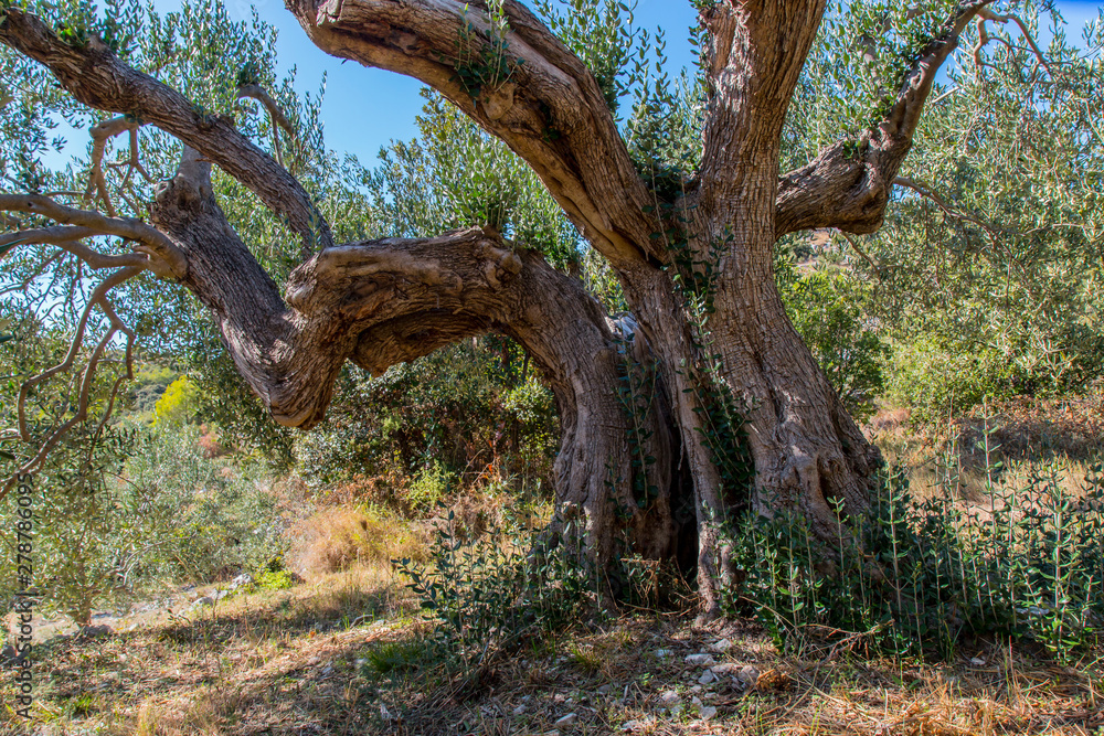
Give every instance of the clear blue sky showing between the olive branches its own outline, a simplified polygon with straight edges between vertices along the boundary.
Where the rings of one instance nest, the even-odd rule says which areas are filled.
[[[178,0],[156,0],[155,4],[166,10],[179,7]],[[283,0],[230,0],[227,10],[231,17],[244,20],[251,15],[251,6],[278,29],[280,66],[297,67],[296,86],[300,90],[315,92],[322,74],[327,75],[322,120],[330,148],[339,153],[354,153],[361,162],[372,166],[380,148],[390,140],[413,137],[414,116],[424,102],[418,96],[420,83],[352,62],[342,64],[326,55],[310,43],[291,13],[284,9]],[[1101,8],[1096,2],[1069,0],[1059,0],[1058,6],[1070,23],[1071,40],[1080,38],[1080,30],[1072,29],[1081,29],[1090,18],[1095,19]],[[688,30],[694,24],[696,12],[689,0],[639,0],[636,21],[644,28],[666,31],[672,72],[692,64]]]

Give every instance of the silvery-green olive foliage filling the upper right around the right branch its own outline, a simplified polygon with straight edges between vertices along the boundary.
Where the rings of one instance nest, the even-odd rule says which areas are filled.
[[[784,169],[853,137],[895,94],[891,60],[907,61],[949,13],[943,2],[915,10],[830,10],[790,107]],[[1011,23],[989,24],[999,41],[980,66],[970,53],[948,61],[901,171],[919,190],[893,190],[884,226],[853,238],[864,257],[846,258],[870,286],[863,311],[894,345],[892,393],[925,422],[952,395],[966,412],[985,395],[1076,392],[1104,366],[1104,138],[1086,115],[1104,105],[1104,24],[1074,43],[1053,6],[1017,12],[1050,38],[1045,65]],[[976,41],[966,34],[964,49]]]

